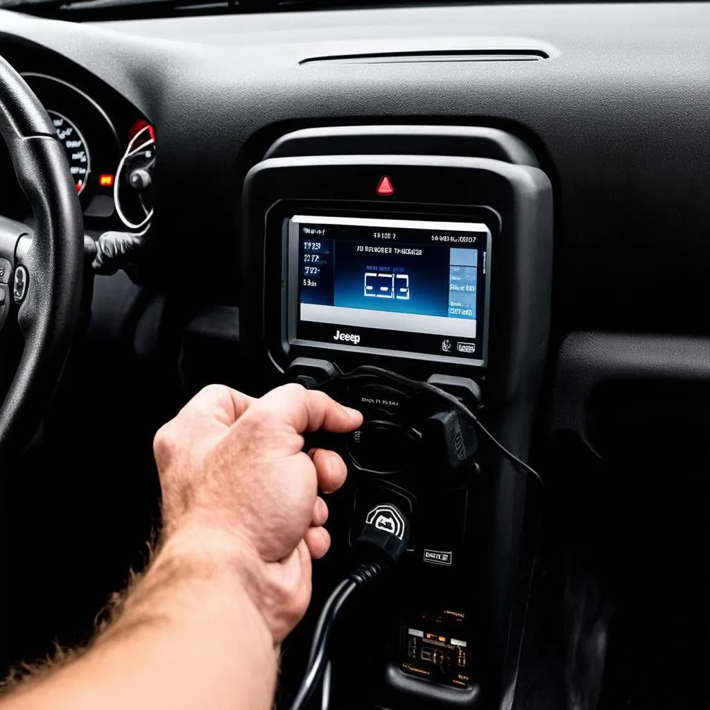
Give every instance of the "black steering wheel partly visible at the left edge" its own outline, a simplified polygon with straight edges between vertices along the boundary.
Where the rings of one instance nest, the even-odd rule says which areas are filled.
[[[1,471],[9,450],[23,449],[33,436],[67,359],[82,295],[84,225],[55,127],[30,87],[2,58],[0,135],[36,223],[32,234],[0,217],[0,330],[5,330],[0,363],[10,368],[4,373],[0,406]],[[16,368],[5,362],[9,349],[3,343],[13,312],[24,341]]]

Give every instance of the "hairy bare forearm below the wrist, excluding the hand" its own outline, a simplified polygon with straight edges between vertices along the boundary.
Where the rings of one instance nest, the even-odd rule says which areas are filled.
[[[266,710],[277,654],[250,584],[229,540],[178,533],[92,648],[0,710]]]

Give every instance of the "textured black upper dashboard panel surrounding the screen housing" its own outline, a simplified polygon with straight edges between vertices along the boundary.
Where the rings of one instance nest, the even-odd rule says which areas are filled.
[[[503,126],[533,146],[559,191],[561,331],[687,333],[707,329],[706,314],[682,307],[704,298],[708,217],[693,188],[707,178],[706,13],[702,3],[556,4],[94,25],[4,14],[2,28],[4,48],[21,37],[90,67],[153,122],[166,153],[160,197],[192,206],[155,225],[171,244],[209,234],[233,249],[227,225],[246,170],[290,129],[403,117]],[[427,60],[452,50],[473,54]],[[502,50],[535,60],[498,61]],[[392,53],[408,60],[367,58]],[[664,248],[677,268],[660,298],[641,266]]]

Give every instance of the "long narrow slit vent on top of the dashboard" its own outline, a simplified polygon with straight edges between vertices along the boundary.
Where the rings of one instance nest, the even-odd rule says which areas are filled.
[[[422,64],[436,62],[537,62],[550,59],[542,50],[481,49],[481,50],[431,50],[426,52],[382,52],[372,54],[333,55],[309,57],[299,64],[328,62],[329,64]]]

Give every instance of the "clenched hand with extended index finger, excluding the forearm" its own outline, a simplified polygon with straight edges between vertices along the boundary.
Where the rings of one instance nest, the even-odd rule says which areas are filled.
[[[302,432],[349,432],[361,422],[298,385],[258,400],[214,385],[155,435],[165,546],[178,555],[226,552],[274,643],[305,613],[310,558],[330,545],[318,488],[334,491],[346,476],[338,454],[302,452]]]

